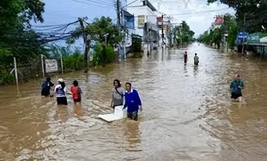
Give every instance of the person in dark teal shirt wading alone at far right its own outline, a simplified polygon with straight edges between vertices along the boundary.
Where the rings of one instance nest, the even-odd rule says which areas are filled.
[[[242,101],[242,92],[241,89],[244,88],[244,83],[243,81],[240,80],[239,75],[234,75],[234,81],[230,85],[231,89],[231,98],[233,100],[239,100],[239,102]]]

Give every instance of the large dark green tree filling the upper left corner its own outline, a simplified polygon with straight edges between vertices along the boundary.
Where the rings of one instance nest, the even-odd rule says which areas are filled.
[[[43,22],[42,0],[1,0],[0,2],[0,64],[10,65],[13,57],[29,63],[46,50],[39,44],[39,35],[30,28],[30,20]]]

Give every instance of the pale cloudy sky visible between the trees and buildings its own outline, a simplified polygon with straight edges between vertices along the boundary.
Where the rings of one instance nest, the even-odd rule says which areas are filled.
[[[78,17],[88,17],[91,22],[95,17],[110,16],[116,22],[115,0],[44,0],[45,22],[37,25],[60,25],[74,22]],[[173,17],[174,23],[185,20],[196,35],[207,30],[216,15],[234,14],[227,5],[213,3],[207,5],[206,0],[150,0],[159,12]],[[223,9],[223,10],[219,10]],[[204,12],[219,10],[214,12]],[[74,29],[76,26],[70,26]]]

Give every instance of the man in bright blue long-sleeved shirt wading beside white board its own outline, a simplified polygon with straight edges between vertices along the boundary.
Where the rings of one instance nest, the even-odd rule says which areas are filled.
[[[125,86],[125,104],[123,109],[127,107],[127,117],[137,121],[139,108],[141,111],[143,110],[141,99],[137,90],[132,89],[131,83],[128,82]]]

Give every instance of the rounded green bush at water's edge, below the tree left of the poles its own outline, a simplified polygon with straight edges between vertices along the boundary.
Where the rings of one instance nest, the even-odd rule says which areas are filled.
[[[107,63],[111,63],[116,58],[116,53],[111,45],[96,44],[94,47],[94,59],[93,65],[105,66]]]

